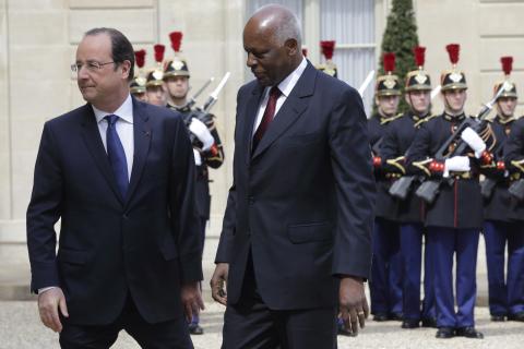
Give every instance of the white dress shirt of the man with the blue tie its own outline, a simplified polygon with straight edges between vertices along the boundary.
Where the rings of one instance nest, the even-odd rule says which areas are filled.
[[[116,115],[118,118],[116,128],[118,137],[123,146],[126,153],[126,161],[128,163],[128,180],[131,178],[131,169],[133,168],[133,155],[134,155],[134,134],[133,134],[133,101],[131,95],[126,98],[123,104],[115,111],[108,112],[97,109],[95,106],[93,111],[95,112],[96,123],[98,124],[98,131],[100,132],[102,143],[107,153],[106,132],[107,120],[104,120],[106,116]]]

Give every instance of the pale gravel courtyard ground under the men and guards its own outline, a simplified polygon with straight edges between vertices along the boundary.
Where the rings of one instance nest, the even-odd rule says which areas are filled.
[[[207,303],[202,314],[203,336],[193,336],[196,349],[218,349],[221,347],[223,306]],[[436,339],[434,329],[401,329],[398,322],[368,325],[356,338],[338,337],[338,348],[499,348],[521,349],[524,344],[524,323],[491,323],[486,308],[476,310],[477,328],[486,338],[478,339]],[[38,320],[33,301],[0,302],[0,348],[2,349],[47,349],[58,348],[58,335],[45,328]],[[128,349],[139,346],[126,333],[121,333],[112,348]],[[317,349],[317,348],[305,348]]]

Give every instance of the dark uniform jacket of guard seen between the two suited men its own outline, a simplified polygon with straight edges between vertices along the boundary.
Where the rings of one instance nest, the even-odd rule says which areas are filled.
[[[168,108],[174,109],[180,112],[186,121],[186,124],[189,127],[191,122],[190,118],[192,118],[192,113],[194,110],[190,109],[189,107],[177,107],[172,105],[167,105]],[[218,136],[218,131],[216,130],[216,125],[214,122],[214,116],[207,115],[205,120],[205,125],[211,132],[211,135],[215,140],[215,144],[211,147],[211,149],[206,152],[200,152],[202,157],[202,165],[196,166],[196,182],[195,182],[195,196],[196,196],[196,213],[199,217],[202,219],[210,219],[210,210],[211,210],[211,195],[210,195],[210,173],[209,168],[218,168],[224,163],[224,149],[222,146],[221,137]],[[193,144],[194,147],[200,149],[202,144],[196,140]]]

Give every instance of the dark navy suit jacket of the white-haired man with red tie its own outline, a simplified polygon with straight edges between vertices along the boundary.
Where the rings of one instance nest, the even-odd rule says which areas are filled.
[[[234,184],[216,262],[229,263],[228,302],[238,302],[251,251],[271,309],[330,306],[341,274],[367,278],[374,182],[358,93],[308,63],[251,154],[263,88],[237,98]]]

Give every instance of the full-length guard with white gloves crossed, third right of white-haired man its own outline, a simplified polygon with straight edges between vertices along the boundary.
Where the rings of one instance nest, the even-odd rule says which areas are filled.
[[[480,165],[492,158],[486,152],[485,141],[472,128],[457,131],[467,119],[464,113],[466,76],[456,70],[460,46],[448,45],[446,49],[453,68],[441,74],[444,112],[421,124],[408,149],[407,163],[413,165],[412,170],[426,177],[427,183],[440,185],[438,195],[426,206],[428,245],[434,255],[437,338],[483,338],[474,327],[477,249],[483,228],[478,174]],[[443,144],[445,154],[441,157]],[[455,153],[462,147],[458,144],[467,145],[464,154]],[[455,253],[456,312],[453,297]]]

